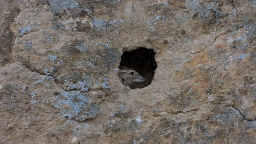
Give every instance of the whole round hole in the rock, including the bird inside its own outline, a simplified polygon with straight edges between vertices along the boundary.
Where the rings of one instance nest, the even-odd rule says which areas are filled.
[[[118,78],[131,89],[144,88],[151,84],[157,63],[153,49],[138,48],[125,51],[121,56]]]

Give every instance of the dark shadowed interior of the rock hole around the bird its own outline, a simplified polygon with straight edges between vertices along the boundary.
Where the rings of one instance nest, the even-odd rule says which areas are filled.
[[[142,77],[147,79],[147,81],[145,82],[131,83],[130,85],[128,85],[131,89],[144,88],[151,84],[154,78],[154,71],[157,68],[157,63],[154,59],[155,54],[156,52],[154,52],[153,49],[146,49],[144,47],[140,47],[132,51],[123,52],[119,69],[121,68],[121,66],[134,69]]]

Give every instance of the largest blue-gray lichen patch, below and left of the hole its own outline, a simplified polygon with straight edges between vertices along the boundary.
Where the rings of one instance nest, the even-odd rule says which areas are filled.
[[[85,121],[95,118],[101,111],[98,105],[92,104],[88,93],[80,91],[60,92],[53,98],[53,106],[59,108],[62,115],[75,121]]]

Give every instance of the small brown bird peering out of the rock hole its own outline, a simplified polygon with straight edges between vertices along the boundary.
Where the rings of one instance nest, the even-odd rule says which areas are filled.
[[[131,83],[141,83],[147,81],[138,72],[131,68],[120,66],[119,69],[118,77],[120,82],[125,86],[129,86]]]

